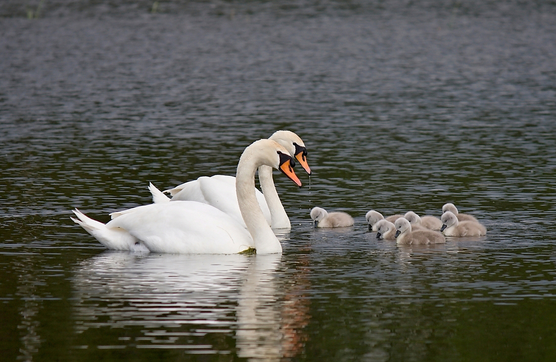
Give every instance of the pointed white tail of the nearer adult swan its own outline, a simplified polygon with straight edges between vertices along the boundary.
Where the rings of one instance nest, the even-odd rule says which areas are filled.
[[[76,215],[77,219],[70,219],[85,229],[87,233],[93,235],[93,237],[95,237],[95,239],[97,239],[107,249],[135,251],[139,248],[137,249],[138,251],[143,251],[141,248],[144,247],[139,240],[133,237],[133,235],[128,233],[126,230],[120,228],[108,228],[106,227],[106,224],[91,219],[78,209],[72,211]]]

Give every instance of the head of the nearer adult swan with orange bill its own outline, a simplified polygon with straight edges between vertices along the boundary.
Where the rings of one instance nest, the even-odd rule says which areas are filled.
[[[301,181],[294,172],[295,161],[281,144],[270,139],[259,139],[247,146],[244,153],[241,154],[240,162],[237,164],[238,170],[240,164],[247,160],[254,162],[256,167],[267,165],[279,169],[301,187]]]

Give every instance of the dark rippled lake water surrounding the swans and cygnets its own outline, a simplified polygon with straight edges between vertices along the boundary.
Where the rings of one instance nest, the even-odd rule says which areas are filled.
[[[6,360],[556,360],[554,2],[7,0],[0,16]],[[277,129],[314,172],[296,167],[301,189],[275,172],[282,255],[109,252],[69,219],[233,175]],[[488,235],[366,232],[370,209],[446,202]],[[315,206],[355,226],[315,229]]]

